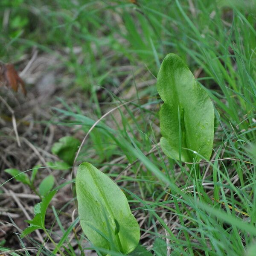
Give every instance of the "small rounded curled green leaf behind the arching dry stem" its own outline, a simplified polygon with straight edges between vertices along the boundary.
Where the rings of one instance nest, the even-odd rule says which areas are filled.
[[[56,154],[61,160],[72,166],[79,145],[80,141],[74,137],[62,137],[59,139],[59,142],[53,144],[52,153]]]

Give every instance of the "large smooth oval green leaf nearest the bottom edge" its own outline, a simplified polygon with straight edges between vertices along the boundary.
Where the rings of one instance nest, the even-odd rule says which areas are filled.
[[[140,227],[119,187],[90,163],[76,175],[81,227],[88,239],[107,250],[130,253],[140,240]]]

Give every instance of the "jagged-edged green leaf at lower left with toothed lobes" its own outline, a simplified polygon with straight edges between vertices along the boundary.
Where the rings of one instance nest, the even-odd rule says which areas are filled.
[[[21,238],[23,238],[24,236],[29,235],[30,233],[32,233],[33,231],[35,231],[37,229],[44,229],[45,228],[44,227],[44,220],[45,220],[46,210],[49,206],[50,201],[52,200],[52,198],[56,194],[56,192],[57,192],[57,190],[53,190],[53,191],[49,192],[43,198],[41,203],[38,203],[38,204],[35,205],[35,207],[34,207],[35,217],[31,221],[29,221],[29,220],[26,221],[30,225],[25,230],[23,230],[23,232],[20,236]]]

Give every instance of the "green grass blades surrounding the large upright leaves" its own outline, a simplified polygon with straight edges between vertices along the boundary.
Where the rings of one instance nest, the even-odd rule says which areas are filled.
[[[256,241],[253,1],[138,0],[138,6],[129,1],[14,2],[17,6],[0,4],[2,19],[10,10],[9,25],[1,33],[1,60],[18,61],[33,46],[54,53],[73,78],[70,88],[87,95],[82,105],[67,104],[63,97],[61,107],[52,109],[52,124],[76,124],[85,135],[103,114],[127,102],[90,132],[79,162],[92,163],[122,187],[139,223],[143,220],[141,234],[148,234],[141,242],[169,241],[173,256],[252,256],[247,250]],[[17,17],[24,24],[12,24]],[[81,47],[79,54],[75,47]],[[187,169],[168,159],[158,145],[156,76],[169,52],[197,74],[220,114],[212,160],[200,164],[200,177],[194,175],[195,165]],[[67,235],[58,247],[74,255],[67,237],[76,221],[64,230],[58,210],[65,212],[54,209],[53,230],[58,226]],[[86,249],[84,239],[81,232],[75,237],[81,250]]]

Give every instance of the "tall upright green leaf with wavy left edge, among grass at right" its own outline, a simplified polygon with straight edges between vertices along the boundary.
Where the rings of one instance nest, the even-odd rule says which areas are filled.
[[[164,102],[160,110],[163,152],[173,159],[192,162],[196,158],[192,151],[196,151],[209,160],[214,137],[213,104],[179,56],[171,53],[164,58],[157,90]]]

